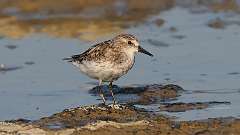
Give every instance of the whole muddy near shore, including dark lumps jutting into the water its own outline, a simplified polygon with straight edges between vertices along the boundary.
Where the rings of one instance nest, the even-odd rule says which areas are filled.
[[[38,120],[17,119],[0,122],[0,134],[239,134],[237,118],[212,118],[195,121],[176,121],[174,118],[136,107],[158,103],[162,111],[181,112],[199,110],[230,102],[159,103],[181,96],[180,86],[147,85],[145,87],[117,88],[116,94],[136,94],[139,98],[117,105],[90,105],[65,109]],[[93,88],[90,93],[94,94]],[[107,97],[107,91],[104,93]]]

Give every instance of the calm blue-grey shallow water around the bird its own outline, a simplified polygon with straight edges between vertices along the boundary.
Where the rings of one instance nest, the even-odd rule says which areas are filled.
[[[152,23],[158,18],[165,20],[162,27]],[[208,27],[208,22],[216,18],[234,23],[228,23],[224,29]],[[236,22],[240,22],[240,15],[232,12],[193,14],[176,7],[126,29],[125,32],[135,34],[154,57],[138,54],[133,69],[115,84],[174,83],[188,92],[171,102],[231,102],[203,110],[160,112],[176,116],[178,120],[240,117],[240,25]],[[171,31],[171,27],[176,31]],[[0,39],[0,64],[21,67],[0,71],[0,120],[38,119],[65,108],[100,103],[101,100],[88,93],[96,81],[61,60],[96,42],[45,34]],[[9,49],[6,45],[17,47]],[[148,106],[154,110],[158,107]]]

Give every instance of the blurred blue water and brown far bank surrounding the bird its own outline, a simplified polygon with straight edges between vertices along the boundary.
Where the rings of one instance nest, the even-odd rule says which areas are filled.
[[[240,117],[239,13],[240,0],[0,0],[0,120],[101,102],[96,81],[61,59],[119,33],[155,57],[139,54],[118,86],[173,83],[189,91],[178,102],[231,102],[161,112],[181,120]]]

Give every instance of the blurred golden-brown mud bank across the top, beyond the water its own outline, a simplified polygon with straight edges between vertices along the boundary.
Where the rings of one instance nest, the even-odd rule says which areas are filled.
[[[2,36],[22,38],[32,33],[95,40],[146,23],[175,6],[192,12],[239,12],[235,0],[1,0]],[[194,11],[195,10],[195,11]],[[164,23],[158,20],[157,25]]]

